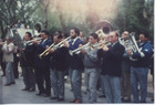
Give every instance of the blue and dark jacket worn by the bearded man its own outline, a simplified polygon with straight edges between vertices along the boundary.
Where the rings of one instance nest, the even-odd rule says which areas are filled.
[[[83,44],[83,41],[80,38],[76,38],[76,40],[74,41],[74,43],[72,44],[72,40],[69,42],[70,46],[69,46],[69,51],[73,51],[75,49],[79,48],[79,44]],[[82,61],[82,56],[80,54],[73,54],[73,55],[68,55],[68,62],[69,62],[69,66],[72,70],[83,70],[83,61]]]

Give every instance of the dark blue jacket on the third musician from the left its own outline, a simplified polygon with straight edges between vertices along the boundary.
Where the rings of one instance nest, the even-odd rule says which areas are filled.
[[[41,59],[39,57],[39,54],[41,54],[46,45],[51,45],[51,40],[48,39],[43,44],[43,41],[40,42],[40,44],[35,45],[37,50],[35,50],[35,67],[50,67],[50,54],[46,56],[42,56]]]

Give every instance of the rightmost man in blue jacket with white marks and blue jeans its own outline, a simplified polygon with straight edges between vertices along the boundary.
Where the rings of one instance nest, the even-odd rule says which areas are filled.
[[[133,52],[128,50],[127,53],[134,59],[131,64],[131,86],[134,103],[145,103],[147,95],[147,74],[151,57],[153,55],[153,49],[148,42],[148,34],[141,33],[140,42],[137,43],[140,52]],[[141,101],[138,99],[137,86],[140,84]]]

